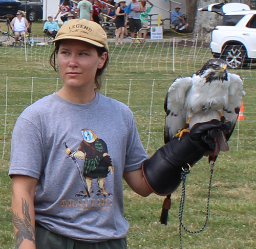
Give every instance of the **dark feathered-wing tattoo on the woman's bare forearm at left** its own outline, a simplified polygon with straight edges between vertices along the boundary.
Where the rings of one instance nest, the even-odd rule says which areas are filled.
[[[24,198],[22,198],[22,213],[23,218],[19,217],[18,213],[12,213],[13,224],[18,230],[15,235],[18,248],[25,239],[35,244],[35,229],[31,225],[29,205]]]

